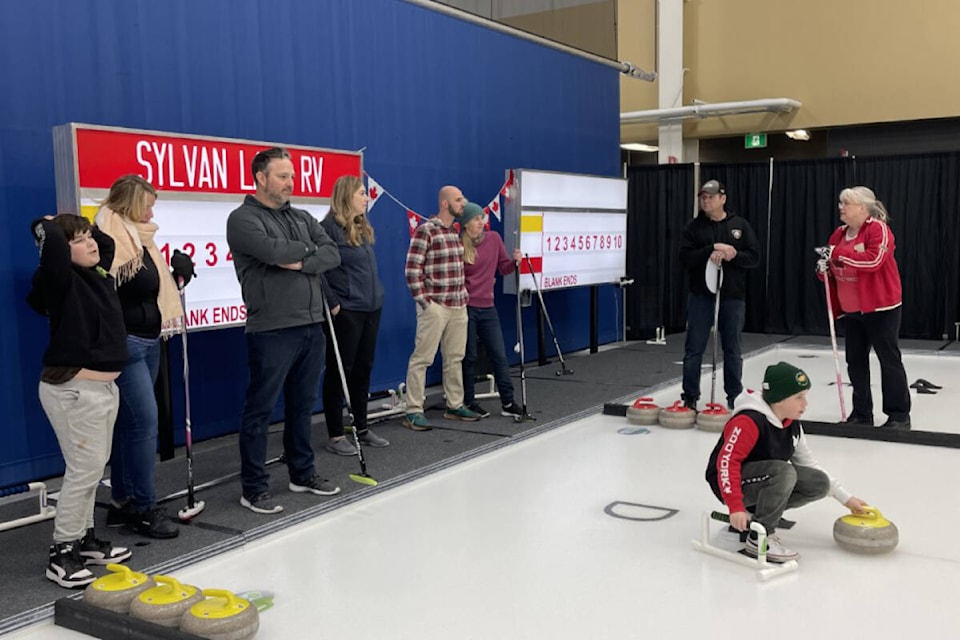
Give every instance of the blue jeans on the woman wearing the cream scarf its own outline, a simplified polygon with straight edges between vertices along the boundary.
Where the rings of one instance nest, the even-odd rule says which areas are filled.
[[[153,385],[160,368],[160,338],[127,336],[129,357],[117,378],[120,409],[110,456],[111,497],[138,511],[157,501],[153,467],[157,459],[157,396]]]

